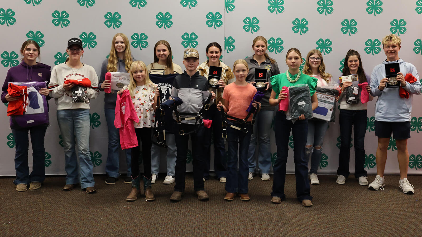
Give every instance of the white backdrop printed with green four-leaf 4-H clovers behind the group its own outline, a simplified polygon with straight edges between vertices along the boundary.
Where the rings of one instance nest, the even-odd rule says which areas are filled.
[[[341,0],[14,0],[0,3],[0,74],[20,62],[20,46],[27,39],[41,46],[41,62],[54,66],[65,61],[66,42],[78,37],[84,43],[82,62],[100,73],[107,57],[111,39],[117,32],[126,34],[135,59],[146,64],[153,61],[154,44],[168,40],[173,50],[173,62],[182,65],[185,48],[197,48],[200,61],[206,60],[205,47],[216,41],[224,46],[221,60],[233,65],[236,59],[253,54],[252,40],[262,35],[268,40],[268,54],[285,72],[285,54],[296,47],[306,57],[309,50],[322,51],[326,71],[337,77],[344,67],[344,55],[349,48],[359,51],[366,73],[385,59],[381,39],[390,33],[400,35],[400,57],[422,70],[422,0],[355,1]],[[103,92],[91,100],[90,149],[95,173],[104,173],[107,158],[107,124],[104,116]],[[422,174],[422,97],[414,96],[409,174]],[[365,169],[376,173],[374,134],[375,101],[368,104],[368,125],[365,137]],[[14,175],[14,137],[8,127],[7,107],[3,106],[3,127],[0,128],[0,175]],[[50,101],[50,126],[47,129],[46,173],[64,174],[62,137],[57,126],[56,106]],[[273,128],[273,124],[268,124]],[[353,143],[353,142],[352,142]],[[338,121],[330,123],[319,173],[335,174],[339,153]],[[289,146],[293,148],[291,139]],[[350,171],[354,172],[354,149],[351,144]],[[398,174],[397,147],[391,139],[388,148],[386,174]],[[31,153],[30,153],[31,154]],[[163,156],[164,157],[164,156]],[[192,154],[188,154],[187,170],[192,170]],[[276,159],[274,134],[271,133],[271,161]],[[30,159],[31,160],[31,159]],[[160,164],[165,172],[165,160]],[[212,165],[211,165],[212,167]],[[121,157],[121,172],[126,165]],[[287,172],[294,172],[292,149]]]

